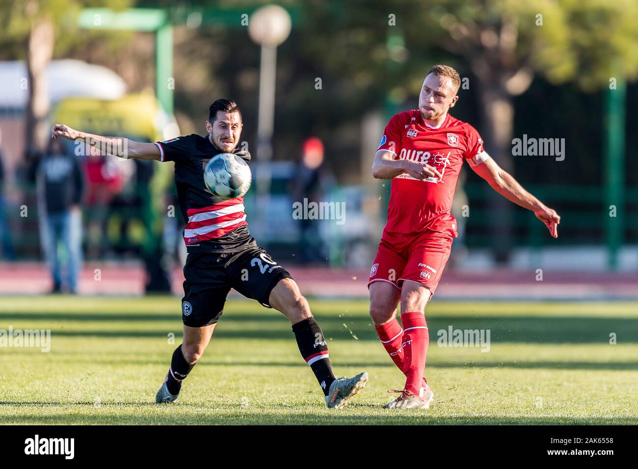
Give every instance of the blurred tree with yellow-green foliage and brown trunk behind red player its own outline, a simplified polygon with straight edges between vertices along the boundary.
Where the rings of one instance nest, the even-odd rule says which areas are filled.
[[[638,71],[638,3],[516,0],[438,0],[427,13],[431,37],[470,65],[478,80],[482,131],[493,158],[512,165],[512,96],[535,72],[549,82],[574,81],[593,91]],[[547,103],[551,105],[551,103]],[[496,260],[508,258],[512,207],[491,199]]]

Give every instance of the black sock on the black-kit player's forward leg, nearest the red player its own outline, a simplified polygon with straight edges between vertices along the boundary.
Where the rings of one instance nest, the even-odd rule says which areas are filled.
[[[308,318],[293,324],[292,332],[297,338],[301,356],[310,365],[324,396],[327,396],[334,375],[328,358],[328,341],[323,337],[321,327],[316,324],[315,318]]]

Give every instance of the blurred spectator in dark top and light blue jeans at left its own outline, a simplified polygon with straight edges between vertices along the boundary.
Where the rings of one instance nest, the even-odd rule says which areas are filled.
[[[60,140],[51,140],[37,169],[40,239],[53,276],[53,292],[77,293],[82,264],[82,214],[84,180],[74,154],[64,151]],[[62,242],[66,258],[63,282],[59,258]]]

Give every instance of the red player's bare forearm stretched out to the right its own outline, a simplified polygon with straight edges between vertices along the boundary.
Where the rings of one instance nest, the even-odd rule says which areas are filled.
[[[545,226],[556,238],[558,237],[558,224],[560,223],[560,216],[554,209],[550,209],[544,205],[540,200],[531,195],[528,191],[524,190],[523,186],[519,184],[512,175],[507,171],[501,169],[501,167],[487,157],[483,163],[479,165],[471,165],[471,168],[476,174],[485,179],[489,185],[500,195],[511,200],[515,204],[521,205],[528,210],[534,212],[538,220],[545,223]]]

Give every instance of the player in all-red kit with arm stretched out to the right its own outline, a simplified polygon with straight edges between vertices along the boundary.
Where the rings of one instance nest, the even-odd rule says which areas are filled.
[[[401,395],[385,408],[428,408],[434,397],[424,378],[429,344],[424,310],[457,237],[450,207],[463,160],[558,236],[556,211],[489,157],[475,128],[448,114],[459,99],[460,84],[454,68],[433,66],[423,82],[419,109],[390,119],[372,167],[374,177],[392,179],[392,185],[388,222],[370,271],[370,316],[385,350],[406,377],[403,391],[390,391]],[[401,325],[396,318],[399,301]]]

